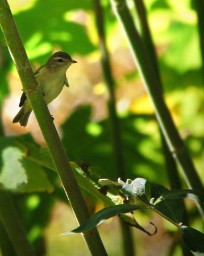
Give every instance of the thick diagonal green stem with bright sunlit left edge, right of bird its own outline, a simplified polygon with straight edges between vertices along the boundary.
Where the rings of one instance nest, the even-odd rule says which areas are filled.
[[[149,59],[138,30],[135,28],[134,21],[132,20],[126,2],[123,0],[111,0],[111,3],[123,31],[125,32],[128,43],[130,44],[135,63],[149,97],[152,100],[157,121],[164,134],[169,150],[176,159],[188,187],[203,192],[201,180],[199,179],[190,155],[186,150],[184,142],[182,141],[164,102],[160,81],[157,79],[155,70],[152,67],[151,59]],[[198,209],[204,219],[202,206],[198,205]]]

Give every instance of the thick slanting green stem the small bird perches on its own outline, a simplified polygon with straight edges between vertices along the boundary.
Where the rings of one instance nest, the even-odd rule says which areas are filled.
[[[51,115],[41,90],[38,87],[34,73],[32,72],[30,62],[28,61],[26,51],[23,47],[13,15],[11,14],[9,4],[6,0],[0,0],[0,24],[7,46],[10,49],[10,53],[19,73],[20,80],[22,81],[23,90],[34,110],[36,119],[38,120],[41,132],[47,143],[53,163],[60,176],[70,205],[78,223],[82,224],[90,216],[88,208],[80,188],[78,187],[63,145],[61,144],[59,134],[51,120]],[[83,234],[83,237],[92,255],[107,255],[97,229]]]

